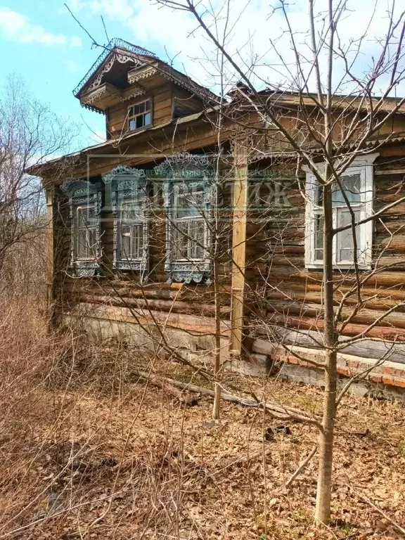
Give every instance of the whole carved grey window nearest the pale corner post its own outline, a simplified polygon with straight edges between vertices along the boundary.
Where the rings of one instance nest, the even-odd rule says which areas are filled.
[[[167,282],[211,283],[212,172],[204,155],[179,154],[155,167],[166,212]]]

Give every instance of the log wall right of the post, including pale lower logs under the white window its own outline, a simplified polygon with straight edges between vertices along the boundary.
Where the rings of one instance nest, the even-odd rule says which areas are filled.
[[[404,156],[404,145],[380,149],[380,156],[374,163],[375,212],[404,197]],[[294,173],[292,171],[291,176]],[[255,176],[252,169],[251,176]],[[285,176],[288,177],[288,171]],[[316,347],[314,339],[321,340],[319,331],[323,330],[323,274],[316,269],[306,269],[304,264],[305,202],[295,181],[285,180],[281,203],[264,205],[260,212],[251,212],[249,268],[255,279],[250,280],[249,294],[255,309],[250,312],[246,333],[258,340],[259,345],[253,345],[254,352],[296,363],[285,348],[277,349],[277,346],[282,343],[288,347],[311,347],[311,358]],[[342,323],[338,324],[343,339],[359,333],[364,333],[366,339],[342,352],[378,359],[390,348],[387,342],[405,342],[404,214],[405,205],[401,203],[375,220],[372,270],[360,272],[361,280],[364,280],[361,286],[363,303],[349,323],[344,324],[357,305],[356,294],[347,298],[342,309]],[[354,283],[354,272],[336,270],[334,278],[335,304],[338,306],[342,295]],[[384,316],[388,310],[392,312]],[[386,343],[371,342],[371,339],[385,340]],[[269,346],[264,345],[263,340]],[[305,356],[304,350],[301,354]],[[405,364],[405,345],[393,346],[389,359]],[[404,377],[403,373],[401,377]]]

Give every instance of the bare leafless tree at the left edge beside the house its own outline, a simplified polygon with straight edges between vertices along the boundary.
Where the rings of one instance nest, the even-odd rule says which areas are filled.
[[[42,186],[26,169],[66,153],[74,138],[72,122],[9,77],[0,94],[0,270],[14,245],[46,228]]]

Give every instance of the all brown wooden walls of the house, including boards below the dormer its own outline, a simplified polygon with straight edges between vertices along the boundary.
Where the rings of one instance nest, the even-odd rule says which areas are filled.
[[[168,90],[169,88],[169,90]],[[162,92],[160,93],[160,89]],[[215,131],[215,118],[208,118],[207,113],[186,117],[177,122],[173,118],[175,103],[191,103],[195,109],[201,109],[201,102],[195,100],[192,94],[181,91],[172,85],[157,86],[153,94],[154,122],[153,127],[129,134],[120,140],[117,146],[102,145],[100,150],[94,150],[97,155],[93,158],[91,151],[83,153],[82,162],[77,164],[77,176],[89,174],[91,181],[97,181],[101,175],[109,172],[117,165],[131,167],[153,166],[156,154],[176,153],[182,151],[205,151],[213,148],[218,141]],[[158,97],[156,97],[158,96]],[[122,134],[120,126],[124,124],[127,103],[110,107],[108,122],[110,131]],[[160,103],[158,108],[155,104]],[[169,105],[170,103],[170,105]],[[156,113],[162,111],[161,116]],[[211,111],[212,115],[212,111]],[[157,120],[158,119],[158,120]],[[287,118],[292,130],[297,123],[296,115]],[[155,124],[162,122],[162,124]],[[252,125],[255,124],[252,119]],[[383,131],[401,131],[403,122],[393,120]],[[383,133],[382,131],[382,133]],[[229,125],[221,134],[222,140],[232,139],[232,129]],[[274,153],[290,150],[282,137],[266,136],[266,145]],[[114,157],[114,154],[116,157]],[[375,162],[375,197],[374,207],[378,210],[382,205],[397,200],[404,194],[402,179],[405,174],[405,147],[385,145],[380,150],[380,158]],[[51,165],[49,165],[51,167]],[[296,342],[300,330],[308,336],[311,332],[322,330],[321,282],[322,273],[307,270],[304,265],[304,201],[297,185],[291,181],[288,169],[266,163],[265,160],[249,168],[249,183],[252,188],[255,171],[259,169],[273,170],[278,173],[276,186],[266,182],[259,190],[253,189],[250,198],[253,199],[250,217],[246,227],[245,252],[247,265],[243,266],[245,279],[243,318],[246,324],[245,335],[268,343],[283,336],[283,342]],[[273,171],[274,172],[274,171]],[[231,175],[232,177],[232,175]],[[288,178],[286,178],[288,177]],[[281,183],[285,181],[281,189]],[[224,216],[221,221],[224,228],[224,241],[221,247],[219,267],[219,295],[221,297],[221,337],[224,350],[231,335],[231,246],[232,246],[232,193],[228,184],[224,189]],[[259,207],[255,203],[259,197]],[[161,192],[155,193],[161,203]],[[277,200],[280,199],[281,200]],[[156,323],[165,328],[168,335],[175,335],[174,343],[179,341],[179,347],[203,349],[212,352],[214,348],[214,290],[212,285],[172,283],[168,284],[165,273],[165,216],[159,210],[154,210],[150,231],[150,275],[142,286],[135,273],[120,272],[113,268],[113,222],[108,208],[103,210],[102,243],[103,243],[103,276],[94,278],[72,278],[63,261],[66,257],[55,259],[54,276],[63,276],[63,283],[57,283],[62,298],[62,312],[67,319],[85,316],[86,321],[92,321],[103,330],[110,325],[112,331],[120,331],[118,323],[127,326],[147,326],[152,328]],[[60,216],[53,218],[55,234],[53,245],[70,245],[70,224],[66,219],[66,208],[60,204]],[[229,211],[231,209],[231,211]],[[364,331],[373,324],[384,311],[396,307],[392,313],[375,324],[367,333],[368,338],[383,340],[405,340],[405,309],[397,307],[397,303],[405,301],[405,248],[403,238],[405,231],[402,221],[405,205],[392,208],[375,223],[373,261],[378,266],[377,274],[369,278],[362,288],[365,298],[364,305],[356,313],[352,321],[342,330],[343,335],[353,335]],[[63,214],[65,212],[65,214]],[[63,228],[64,227],[64,228]],[[57,239],[56,230],[60,238]],[[67,249],[67,248],[65,248]],[[63,266],[64,265],[64,266]],[[336,272],[339,285],[338,294],[348,290],[353,282],[353,274],[345,271]],[[54,297],[58,296],[54,293]],[[337,300],[338,302],[338,300]],[[353,300],[347,300],[348,310],[353,306]],[[114,326],[116,325],[116,326]],[[286,330],[281,332],[281,330]],[[108,330],[109,331],[109,330]],[[127,330],[125,330],[127,331]],[[174,334],[175,332],[175,334]],[[172,333],[172,334],[170,334]],[[302,339],[302,334],[300,334]],[[159,335],[158,335],[159,338]],[[256,342],[257,342],[256,340]],[[246,340],[247,344],[249,340]],[[305,340],[304,340],[305,342]],[[306,342],[308,345],[308,342]],[[252,350],[257,352],[260,347],[255,342]],[[271,351],[271,347],[266,350]],[[397,352],[395,353],[397,354]],[[276,356],[270,352],[270,356]],[[282,354],[278,354],[282,357]],[[396,358],[402,359],[398,353]],[[403,360],[402,360],[403,361]]]

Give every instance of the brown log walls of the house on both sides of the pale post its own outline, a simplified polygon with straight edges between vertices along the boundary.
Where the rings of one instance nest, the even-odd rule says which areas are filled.
[[[405,195],[405,148],[387,147],[375,162],[375,210]],[[385,155],[386,154],[386,155]],[[152,167],[155,163],[150,162]],[[148,164],[146,164],[148,166]],[[271,172],[271,184],[266,174],[264,181],[257,171]],[[265,162],[250,167],[250,219],[247,226],[245,271],[245,333],[269,340],[274,329],[288,328],[311,333],[322,330],[321,271],[304,266],[304,200],[295,184],[293,174],[285,167],[272,167]],[[232,178],[232,175],[230,176]],[[259,178],[260,188],[255,185]],[[98,181],[100,176],[94,176]],[[274,183],[276,183],[275,187]],[[284,184],[283,184],[284,183]],[[283,184],[283,186],[281,185]],[[219,263],[221,285],[221,319],[224,349],[229,338],[231,311],[231,198],[232,182],[224,182],[224,228]],[[66,208],[60,205],[60,218],[54,223],[64,226],[65,268],[63,275],[63,312],[86,313],[88,318],[103,324],[105,321],[150,325],[160,321],[168,330],[178,330],[176,339],[183,347],[205,349],[212,347],[214,336],[214,292],[212,286],[172,283],[165,274],[165,215],[162,212],[162,191],[156,188],[150,230],[150,277],[143,286],[139,276],[130,272],[117,273],[113,269],[113,220],[108,209],[103,211],[103,263],[105,275],[97,278],[71,278],[66,272],[66,250],[70,245],[70,224]],[[405,300],[405,236],[403,215],[399,205],[386,212],[375,223],[373,261],[380,271],[366,281],[362,288],[364,307],[347,325],[342,334],[353,335],[364,331],[387,309]],[[392,235],[392,236],[391,236]],[[60,264],[60,263],[58,263]],[[338,294],[348,290],[353,275],[336,272]],[[364,273],[366,275],[366,272]],[[338,298],[338,295],[337,295]],[[337,300],[338,302],[338,300]],[[354,304],[348,300],[346,311]],[[79,311],[78,311],[79,310]],[[92,315],[89,316],[89,313]],[[283,334],[285,336],[285,334]],[[291,334],[294,340],[297,335]],[[372,328],[368,338],[405,340],[405,307],[399,307]],[[283,338],[288,340],[289,338]],[[269,340],[270,341],[270,340]],[[397,355],[400,359],[401,354]]]

